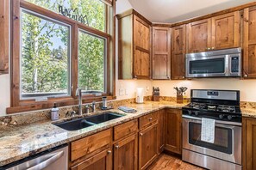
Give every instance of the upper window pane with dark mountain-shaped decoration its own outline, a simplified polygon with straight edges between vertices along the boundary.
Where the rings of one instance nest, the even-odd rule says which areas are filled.
[[[89,27],[105,30],[105,6],[100,0],[26,0]],[[60,6],[62,7],[60,7]]]

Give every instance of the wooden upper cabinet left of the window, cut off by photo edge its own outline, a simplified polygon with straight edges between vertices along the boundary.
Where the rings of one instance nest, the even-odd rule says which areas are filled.
[[[0,2],[0,75],[9,71],[9,1]]]

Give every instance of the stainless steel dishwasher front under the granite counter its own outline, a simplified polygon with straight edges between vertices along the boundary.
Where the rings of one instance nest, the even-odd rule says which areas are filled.
[[[7,166],[0,167],[6,170],[67,170],[68,147],[67,145],[49,149],[41,154],[29,156],[21,161],[16,161]]]

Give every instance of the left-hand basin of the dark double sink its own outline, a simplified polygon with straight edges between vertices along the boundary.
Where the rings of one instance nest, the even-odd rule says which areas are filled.
[[[90,127],[91,125],[95,125],[95,124],[86,121],[86,119],[84,118],[79,118],[76,120],[61,122],[59,124],[54,124],[54,125],[57,125],[60,128],[65,129],[67,131],[77,131],[77,130],[84,129],[86,127]]]

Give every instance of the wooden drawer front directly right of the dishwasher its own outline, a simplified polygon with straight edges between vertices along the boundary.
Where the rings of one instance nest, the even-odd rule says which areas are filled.
[[[111,143],[111,129],[98,132],[71,143],[71,161],[88,155]]]

